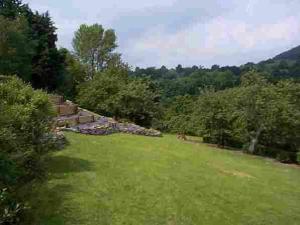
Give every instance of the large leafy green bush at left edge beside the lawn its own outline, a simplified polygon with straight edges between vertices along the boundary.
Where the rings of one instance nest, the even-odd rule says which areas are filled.
[[[18,221],[23,199],[17,190],[42,174],[53,116],[46,93],[15,77],[0,80],[0,224]]]

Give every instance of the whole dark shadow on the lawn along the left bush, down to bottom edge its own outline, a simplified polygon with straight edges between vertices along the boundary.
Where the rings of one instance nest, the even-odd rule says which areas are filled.
[[[65,224],[71,210],[67,202],[73,187],[65,184],[63,179],[68,174],[93,170],[91,162],[68,156],[49,156],[45,163],[48,172],[46,179],[36,181],[24,190],[30,208],[26,210],[22,224]]]

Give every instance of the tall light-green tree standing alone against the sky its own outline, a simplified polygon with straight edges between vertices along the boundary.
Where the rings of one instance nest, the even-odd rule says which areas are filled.
[[[92,79],[95,72],[103,71],[110,60],[118,56],[113,53],[116,40],[114,30],[105,30],[100,24],[83,24],[75,32],[73,48],[81,62],[88,65],[88,79]]]

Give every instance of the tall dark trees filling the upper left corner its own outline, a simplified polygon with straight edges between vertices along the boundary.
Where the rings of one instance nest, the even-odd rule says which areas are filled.
[[[0,1],[0,73],[15,74],[34,88],[57,89],[64,57],[56,48],[56,28],[48,13],[32,12],[21,1]]]

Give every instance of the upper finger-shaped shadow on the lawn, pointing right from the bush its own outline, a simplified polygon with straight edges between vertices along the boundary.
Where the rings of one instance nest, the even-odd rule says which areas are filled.
[[[80,173],[92,171],[93,164],[87,160],[68,156],[52,156],[47,160],[49,174]]]

